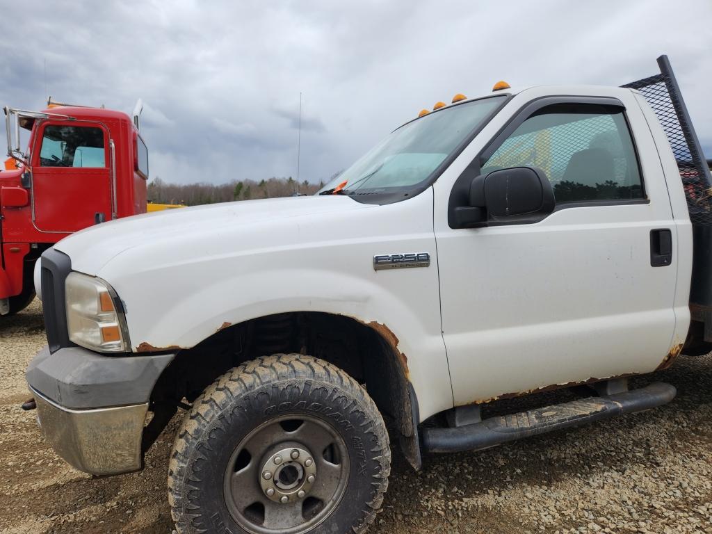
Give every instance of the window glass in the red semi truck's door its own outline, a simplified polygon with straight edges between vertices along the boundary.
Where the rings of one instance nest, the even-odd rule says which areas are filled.
[[[40,164],[42,167],[106,167],[103,130],[86,126],[45,127]]]

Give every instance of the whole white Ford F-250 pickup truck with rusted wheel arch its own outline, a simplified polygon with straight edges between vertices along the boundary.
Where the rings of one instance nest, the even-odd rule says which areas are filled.
[[[658,63],[624,88],[456,95],[314,197],[59,242],[38,262],[48,347],[27,370],[47,441],[82,471],[136,471],[186,409],[179,533],[362,532],[388,484],[384,419],[419,468],[669,402],[672,385],[627,377],[710,350],[712,212]],[[588,393],[482,417],[574,385]]]

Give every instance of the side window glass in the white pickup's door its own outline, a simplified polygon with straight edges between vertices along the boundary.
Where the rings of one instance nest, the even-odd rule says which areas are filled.
[[[542,108],[483,163],[482,174],[521,166],[545,172],[557,204],[644,198],[628,125],[617,108]]]

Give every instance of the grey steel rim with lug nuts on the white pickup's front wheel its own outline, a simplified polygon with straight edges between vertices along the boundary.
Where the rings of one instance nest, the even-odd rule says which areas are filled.
[[[348,476],[346,444],[331,424],[306,414],[283,415],[236,446],[224,473],[225,503],[248,532],[301,534],[331,515]]]

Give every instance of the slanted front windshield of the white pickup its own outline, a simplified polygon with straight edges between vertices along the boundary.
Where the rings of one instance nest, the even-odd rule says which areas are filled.
[[[318,193],[340,189],[359,201],[395,202],[417,194],[506,98],[472,100],[429,113],[394,130]],[[345,186],[339,188],[340,184]],[[361,197],[371,195],[372,197]],[[375,197],[378,197],[376,199]]]

